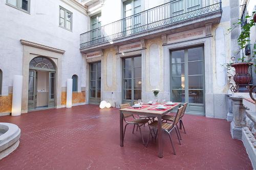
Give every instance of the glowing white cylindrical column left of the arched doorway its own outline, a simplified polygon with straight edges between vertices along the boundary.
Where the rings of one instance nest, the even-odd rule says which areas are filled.
[[[22,114],[22,85],[23,76],[15,75],[12,85],[12,116]]]

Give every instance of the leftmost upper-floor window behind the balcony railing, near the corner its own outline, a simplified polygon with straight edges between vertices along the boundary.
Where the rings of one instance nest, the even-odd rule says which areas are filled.
[[[101,29],[97,29],[101,27],[101,13],[94,15],[91,17],[91,39],[95,40],[101,37]]]

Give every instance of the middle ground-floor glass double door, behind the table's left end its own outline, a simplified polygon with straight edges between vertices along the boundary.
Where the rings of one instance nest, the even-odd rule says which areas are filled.
[[[134,104],[141,99],[141,56],[123,59],[122,103]]]

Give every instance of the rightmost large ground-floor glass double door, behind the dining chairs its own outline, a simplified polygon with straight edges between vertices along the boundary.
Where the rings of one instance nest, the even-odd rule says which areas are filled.
[[[204,48],[185,48],[170,52],[171,100],[188,103],[186,112],[204,112]]]

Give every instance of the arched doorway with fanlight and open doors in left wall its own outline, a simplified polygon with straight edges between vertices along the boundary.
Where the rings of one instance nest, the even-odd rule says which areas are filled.
[[[29,63],[28,110],[55,106],[56,67],[47,57]]]

